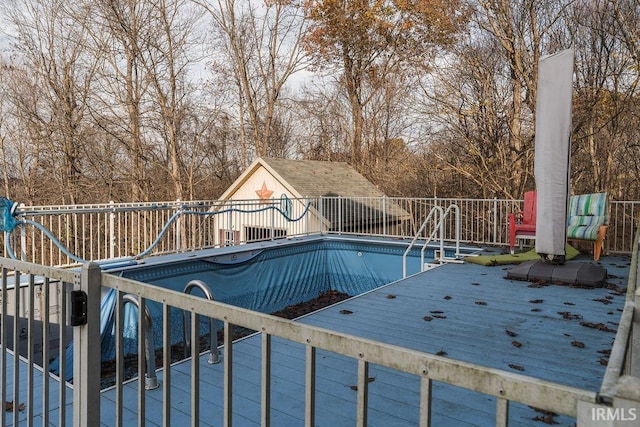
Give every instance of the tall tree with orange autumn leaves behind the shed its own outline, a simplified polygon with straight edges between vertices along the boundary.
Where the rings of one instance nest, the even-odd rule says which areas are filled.
[[[363,110],[409,65],[432,66],[438,47],[466,23],[461,1],[309,0],[307,50],[318,67],[339,69],[351,109],[350,160],[363,161]]]

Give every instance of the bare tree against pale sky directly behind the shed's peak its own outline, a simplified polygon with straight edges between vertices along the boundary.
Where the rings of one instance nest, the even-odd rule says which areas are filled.
[[[248,163],[249,144],[257,156],[282,153],[278,129],[283,129],[283,117],[278,117],[278,105],[287,81],[308,65],[301,48],[307,29],[301,2],[198,3],[209,12],[223,46],[216,70],[228,73],[237,88],[236,108],[244,147],[241,163]],[[228,68],[223,64],[229,64]]]

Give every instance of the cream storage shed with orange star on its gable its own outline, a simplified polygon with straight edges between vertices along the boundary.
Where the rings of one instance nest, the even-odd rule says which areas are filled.
[[[258,158],[220,200],[222,246],[323,232],[393,234],[409,219],[345,162]]]

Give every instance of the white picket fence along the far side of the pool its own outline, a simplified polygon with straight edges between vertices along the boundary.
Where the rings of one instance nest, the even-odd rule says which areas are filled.
[[[462,242],[507,245],[508,214],[521,201],[459,198],[340,198],[264,201],[107,203],[74,206],[21,206],[18,218],[42,224],[71,254],[84,260],[134,257],[197,250],[310,233],[413,237],[434,206],[460,209]],[[640,202],[611,203],[605,251],[630,254]],[[453,218],[452,218],[453,221]],[[455,227],[446,224],[445,239]],[[156,245],[153,243],[161,238]],[[8,239],[20,259],[66,265],[74,260],[33,225],[19,226]],[[5,242],[2,254],[9,255]]]

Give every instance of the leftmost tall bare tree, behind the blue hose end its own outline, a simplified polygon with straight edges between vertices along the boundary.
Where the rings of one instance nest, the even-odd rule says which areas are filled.
[[[84,118],[94,73],[85,55],[87,13],[75,21],[60,0],[23,0],[4,12],[16,31],[17,63],[29,70],[23,78],[32,78],[32,89],[40,95],[36,103],[15,98],[15,107],[29,117],[32,138],[37,135],[32,141],[41,149],[43,183],[53,190],[47,183],[57,182],[52,200],[76,203],[82,192]]]

